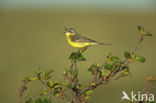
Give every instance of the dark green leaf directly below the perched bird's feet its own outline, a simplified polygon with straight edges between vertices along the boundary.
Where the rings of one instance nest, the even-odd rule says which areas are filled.
[[[85,60],[86,60],[86,59],[83,57],[82,54],[77,53],[77,52],[73,52],[73,53],[70,55],[69,59],[71,59],[71,60],[77,60],[77,61],[85,61]]]

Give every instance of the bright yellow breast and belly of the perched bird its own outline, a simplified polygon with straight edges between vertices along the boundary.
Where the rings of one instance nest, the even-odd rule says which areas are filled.
[[[70,37],[67,37],[67,41],[68,43],[75,47],[75,48],[84,48],[84,47],[87,47],[87,46],[91,46],[91,45],[94,45],[96,43],[80,43],[80,42],[72,42]]]

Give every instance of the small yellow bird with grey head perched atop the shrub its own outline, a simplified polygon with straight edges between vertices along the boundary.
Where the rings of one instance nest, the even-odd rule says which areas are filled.
[[[80,35],[74,28],[64,28],[68,43],[75,48],[87,48],[92,45],[111,45],[109,43],[101,43],[85,36]]]

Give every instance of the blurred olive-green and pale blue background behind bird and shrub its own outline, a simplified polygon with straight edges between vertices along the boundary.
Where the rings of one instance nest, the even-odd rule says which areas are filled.
[[[143,25],[153,33],[153,37],[144,40],[138,51],[147,61],[130,66],[133,78],[100,86],[89,103],[120,103],[122,90],[129,94],[131,90],[137,92],[143,88],[147,75],[156,76],[154,1],[121,3],[122,0],[112,0],[109,5],[106,2],[94,3],[94,0],[91,3],[89,0],[85,3],[72,3],[70,0],[49,3],[46,0],[47,3],[37,5],[13,1],[0,1],[0,103],[16,103],[22,76],[33,74],[39,67],[41,70],[54,69],[53,79],[63,81],[62,71],[70,65],[68,57],[77,50],[67,43],[62,33],[64,27],[75,28],[82,35],[113,44],[93,46],[84,53],[87,61],[78,64],[80,81],[84,85],[91,80],[87,72],[91,64],[103,63],[110,52],[123,57],[124,50],[132,50],[139,39],[137,25]],[[34,98],[41,91],[39,85],[34,82],[29,86]],[[156,94],[156,89],[153,93]],[[53,102],[63,103],[57,98],[53,98]]]

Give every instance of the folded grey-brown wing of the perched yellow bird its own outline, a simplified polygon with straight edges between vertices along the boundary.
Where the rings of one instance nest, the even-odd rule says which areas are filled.
[[[84,37],[84,36],[81,36],[79,34],[76,34],[76,35],[72,35],[71,36],[71,40],[72,42],[81,42],[81,43],[97,43],[95,40],[91,40],[87,37]]]

